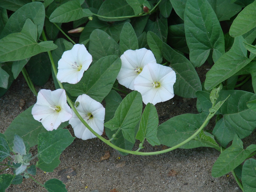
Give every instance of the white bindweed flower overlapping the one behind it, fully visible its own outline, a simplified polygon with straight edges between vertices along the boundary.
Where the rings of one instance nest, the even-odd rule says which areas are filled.
[[[173,85],[176,74],[172,68],[157,63],[149,63],[134,80],[134,89],[141,93],[145,104],[153,105],[174,97]]]

